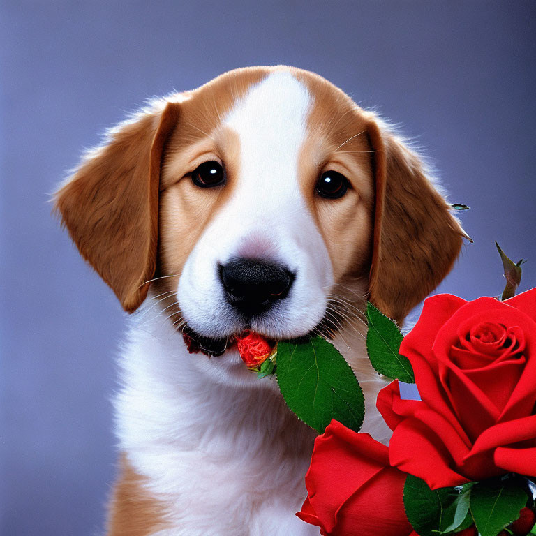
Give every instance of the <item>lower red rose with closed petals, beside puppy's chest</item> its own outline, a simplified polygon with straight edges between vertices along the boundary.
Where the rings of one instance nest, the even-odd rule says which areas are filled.
[[[389,466],[385,445],[333,420],[315,440],[308,496],[296,515],[324,536],[415,535],[404,512],[405,477]]]

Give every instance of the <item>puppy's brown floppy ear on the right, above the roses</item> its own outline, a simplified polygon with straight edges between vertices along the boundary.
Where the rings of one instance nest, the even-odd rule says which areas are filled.
[[[444,278],[464,232],[417,155],[375,119],[375,217],[369,299],[397,322]]]

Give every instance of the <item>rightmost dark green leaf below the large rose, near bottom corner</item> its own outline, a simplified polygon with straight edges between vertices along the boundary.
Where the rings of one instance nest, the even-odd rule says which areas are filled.
[[[475,484],[469,502],[480,535],[496,536],[519,517],[527,500],[526,491],[514,480]]]

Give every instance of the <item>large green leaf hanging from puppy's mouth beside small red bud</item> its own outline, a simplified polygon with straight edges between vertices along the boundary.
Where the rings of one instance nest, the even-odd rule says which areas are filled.
[[[359,382],[334,345],[322,337],[279,341],[277,382],[288,407],[324,433],[332,419],[359,431],[365,415]]]

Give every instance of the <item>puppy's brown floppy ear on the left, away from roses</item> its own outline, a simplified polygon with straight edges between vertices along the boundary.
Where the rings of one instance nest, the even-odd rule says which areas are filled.
[[[55,209],[125,311],[147,296],[156,267],[158,186],[179,104],[158,103],[110,131],[55,194]]]

